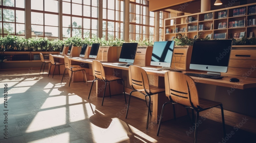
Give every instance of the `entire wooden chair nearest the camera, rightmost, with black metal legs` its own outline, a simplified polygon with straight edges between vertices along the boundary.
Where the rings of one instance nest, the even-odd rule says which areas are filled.
[[[198,124],[199,112],[220,106],[222,115],[222,126],[223,134],[226,136],[225,122],[224,122],[224,112],[222,103],[215,102],[207,99],[198,98],[198,92],[194,80],[182,73],[175,71],[168,71],[165,73],[165,94],[170,102],[166,102],[163,105],[162,113],[160,117],[160,122],[157,130],[157,136],[159,135],[159,130],[161,127],[161,121],[164,112],[164,106],[169,103],[176,103],[185,106],[186,108],[191,108],[196,111],[196,125]],[[197,139],[197,126],[195,126],[195,136],[194,143]]]

